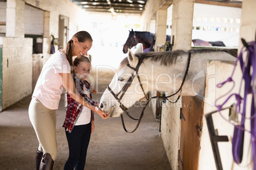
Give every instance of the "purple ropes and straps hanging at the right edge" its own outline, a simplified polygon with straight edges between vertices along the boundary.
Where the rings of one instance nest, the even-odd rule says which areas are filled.
[[[236,60],[236,63],[234,65],[234,69],[232,71],[231,77],[229,77],[226,81],[217,84],[217,88],[222,88],[226,82],[232,82],[233,86],[229,92],[232,91],[234,88],[234,81],[232,80],[232,76],[234,75],[234,70],[238,64],[238,61],[240,63],[240,67],[242,70],[243,77],[241,79],[241,83],[245,82],[245,93],[244,93],[244,98],[241,97],[241,84],[239,88],[239,93],[233,93],[229,97],[227,97],[227,100],[222,103],[222,105],[217,105],[217,101],[220,98],[223,98],[226,96],[228,93],[226,93],[223,96],[220,96],[215,101],[215,107],[218,108],[218,112],[220,113],[220,110],[222,110],[222,107],[224,104],[231,98],[231,96],[235,96],[236,98],[236,113],[241,114],[241,124],[233,124],[234,125],[234,135],[232,139],[232,155],[233,159],[237,164],[240,164],[243,159],[243,143],[244,143],[244,136],[245,136],[245,131],[251,134],[251,144],[252,144],[252,162],[253,162],[253,169],[256,169],[256,119],[255,119],[255,107],[256,107],[256,41],[250,42],[247,44],[244,39],[241,39],[244,47],[241,49],[241,53],[238,56],[238,59]],[[246,60],[245,62],[243,61],[243,53],[247,53],[246,55]],[[251,70],[252,69],[252,70]],[[250,117],[246,118],[246,99],[247,95],[251,94],[252,95],[252,103],[251,103],[251,115]],[[241,112],[241,101],[243,100],[243,110]],[[222,115],[220,113],[220,115]],[[222,115],[223,117],[223,115]],[[224,118],[225,119],[225,118]],[[245,119],[250,119],[250,126],[251,130],[248,131],[245,129]],[[225,119],[226,120],[226,119]],[[226,120],[227,121],[227,120]],[[229,122],[229,121],[228,121]],[[230,122],[231,123],[231,122]]]

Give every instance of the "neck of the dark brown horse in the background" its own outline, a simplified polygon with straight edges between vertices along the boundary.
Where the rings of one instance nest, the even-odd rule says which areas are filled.
[[[135,34],[138,42],[143,44],[146,48],[150,48],[150,46],[154,41],[155,34],[152,34],[150,32],[139,32],[139,31],[136,31]],[[147,34],[150,34],[150,36],[148,36]]]

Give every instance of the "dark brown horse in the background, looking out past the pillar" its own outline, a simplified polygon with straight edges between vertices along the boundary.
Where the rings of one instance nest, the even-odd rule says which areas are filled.
[[[129,36],[124,44],[123,52],[127,53],[128,48],[136,46],[139,42],[143,44],[143,52],[152,51],[155,44],[155,34],[151,32],[129,30]],[[166,41],[171,42],[171,36],[166,36]]]

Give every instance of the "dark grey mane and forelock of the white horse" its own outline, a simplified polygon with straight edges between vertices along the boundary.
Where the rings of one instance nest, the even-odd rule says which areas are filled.
[[[139,58],[139,64],[143,63],[145,60],[150,59],[153,62],[160,62],[161,65],[172,65],[176,63],[178,56],[188,55],[188,52],[191,54],[197,53],[216,53],[216,52],[225,52],[229,55],[237,57],[238,49],[190,49],[189,51],[185,51],[182,49],[178,49],[175,51],[164,51],[164,52],[148,52],[148,53],[138,53],[135,54],[136,57]],[[120,67],[124,67],[127,65],[128,58],[125,57],[124,60],[120,63]]]

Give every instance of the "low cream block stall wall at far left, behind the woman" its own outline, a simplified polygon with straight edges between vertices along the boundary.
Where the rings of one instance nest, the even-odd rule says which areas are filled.
[[[3,39],[3,104],[7,108],[31,94],[32,39]]]

